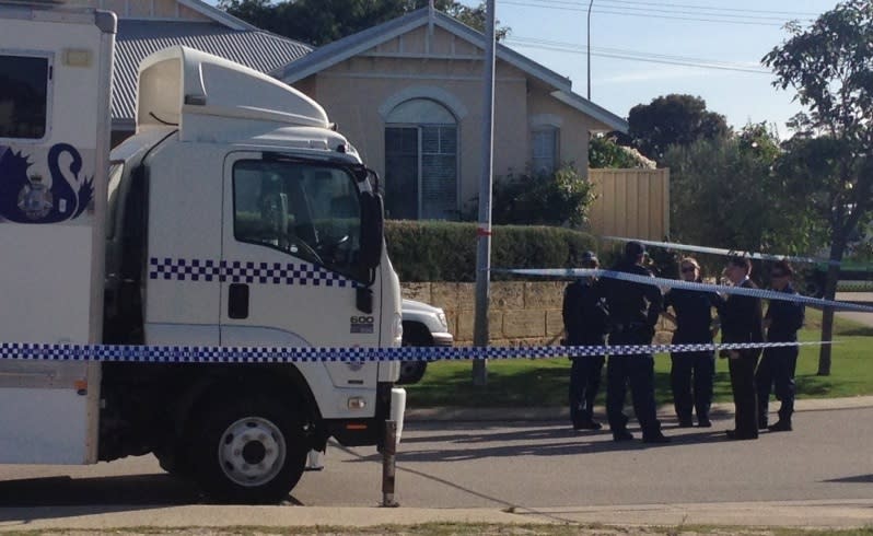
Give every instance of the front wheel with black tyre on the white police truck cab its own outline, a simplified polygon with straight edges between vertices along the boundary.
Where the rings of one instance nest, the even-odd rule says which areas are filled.
[[[206,410],[188,456],[203,491],[220,502],[277,503],[303,475],[303,426],[276,398],[220,403]]]

